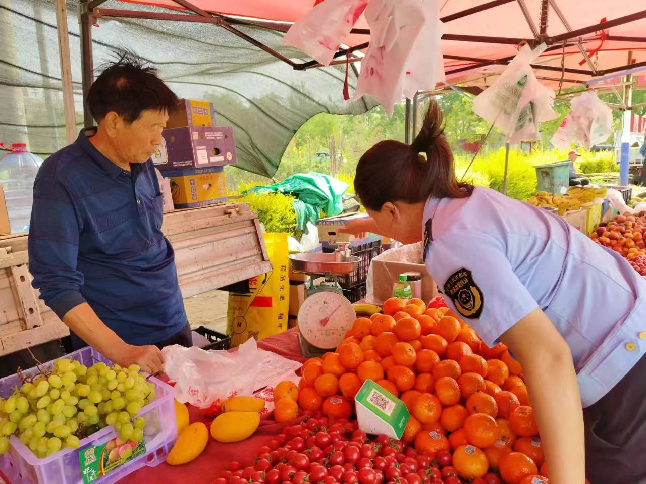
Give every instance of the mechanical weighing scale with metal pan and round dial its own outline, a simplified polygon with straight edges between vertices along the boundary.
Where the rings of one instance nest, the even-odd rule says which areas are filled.
[[[343,341],[357,314],[343,295],[337,278],[351,274],[360,258],[350,255],[349,244],[339,242],[336,251],[287,256],[294,272],[309,275],[306,299],[298,310],[298,344],[306,358],[322,356]],[[321,280],[332,279],[331,282]],[[317,280],[318,279],[318,280]]]

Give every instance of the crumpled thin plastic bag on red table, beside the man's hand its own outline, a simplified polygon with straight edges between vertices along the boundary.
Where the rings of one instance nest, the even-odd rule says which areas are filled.
[[[238,351],[205,351],[179,344],[161,350],[164,372],[175,382],[175,398],[180,403],[208,408],[232,395],[251,395],[264,356],[255,339],[240,345]]]

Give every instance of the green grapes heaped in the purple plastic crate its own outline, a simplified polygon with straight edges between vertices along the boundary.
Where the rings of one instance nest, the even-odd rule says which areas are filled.
[[[61,448],[78,448],[80,439],[112,425],[122,441],[143,439],[145,419],[135,416],[155,397],[140,367],[54,361],[52,372],[16,388],[0,399],[0,454],[9,450],[9,436],[39,458]]]

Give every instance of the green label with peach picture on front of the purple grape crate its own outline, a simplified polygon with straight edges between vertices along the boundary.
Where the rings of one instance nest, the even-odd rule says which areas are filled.
[[[98,481],[105,474],[146,453],[143,440],[139,443],[129,440],[118,445],[118,438],[114,437],[105,444],[87,447],[79,452],[83,484]]]

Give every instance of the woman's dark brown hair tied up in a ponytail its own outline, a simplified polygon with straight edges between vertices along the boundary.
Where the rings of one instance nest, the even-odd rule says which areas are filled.
[[[375,211],[386,202],[416,204],[430,196],[465,198],[472,191],[472,185],[455,177],[442,111],[435,101],[412,145],[393,140],[377,143],[361,157],[355,175],[355,193],[364,207]]]

